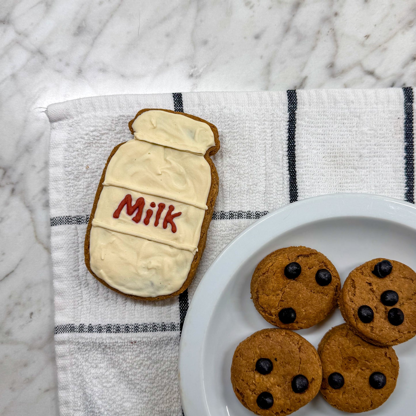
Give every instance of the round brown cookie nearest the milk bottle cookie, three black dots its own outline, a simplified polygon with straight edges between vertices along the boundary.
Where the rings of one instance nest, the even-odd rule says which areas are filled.
[[[341,283],[334,265],[307,247],[267,255],[251,278],[251,297],[267,322],[303,329],[321,322],[337,305]]]

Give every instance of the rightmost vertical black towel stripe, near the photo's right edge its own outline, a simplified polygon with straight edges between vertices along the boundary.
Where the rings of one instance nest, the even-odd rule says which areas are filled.
[[[403,88],[404,95],[404,176],[406,191],[404,199],[414,203],[414,132],[413,132],[413,89]]]

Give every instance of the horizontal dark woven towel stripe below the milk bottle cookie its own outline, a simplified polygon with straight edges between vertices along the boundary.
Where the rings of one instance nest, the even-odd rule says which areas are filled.
[[[106,334],[126,334],[129,332],[168,332],[179,331],[179,324],[176,322],[150,322],[143,324],[66,324],[56,325],[55,334],[69,333],[106,333]]]

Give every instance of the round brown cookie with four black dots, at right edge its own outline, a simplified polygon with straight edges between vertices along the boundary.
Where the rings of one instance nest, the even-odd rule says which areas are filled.
[[[375,345],[396,345],[416,334],[416,273],[378,258],[352,270],[339,298],[349,327]]]

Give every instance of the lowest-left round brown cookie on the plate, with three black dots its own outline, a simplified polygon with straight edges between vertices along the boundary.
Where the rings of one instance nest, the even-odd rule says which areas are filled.
[[[316,349],[299,334],[269,328],[240,342],[231,364],[238,400],[263,416],[284,416],[311,401],[321,386]]]

